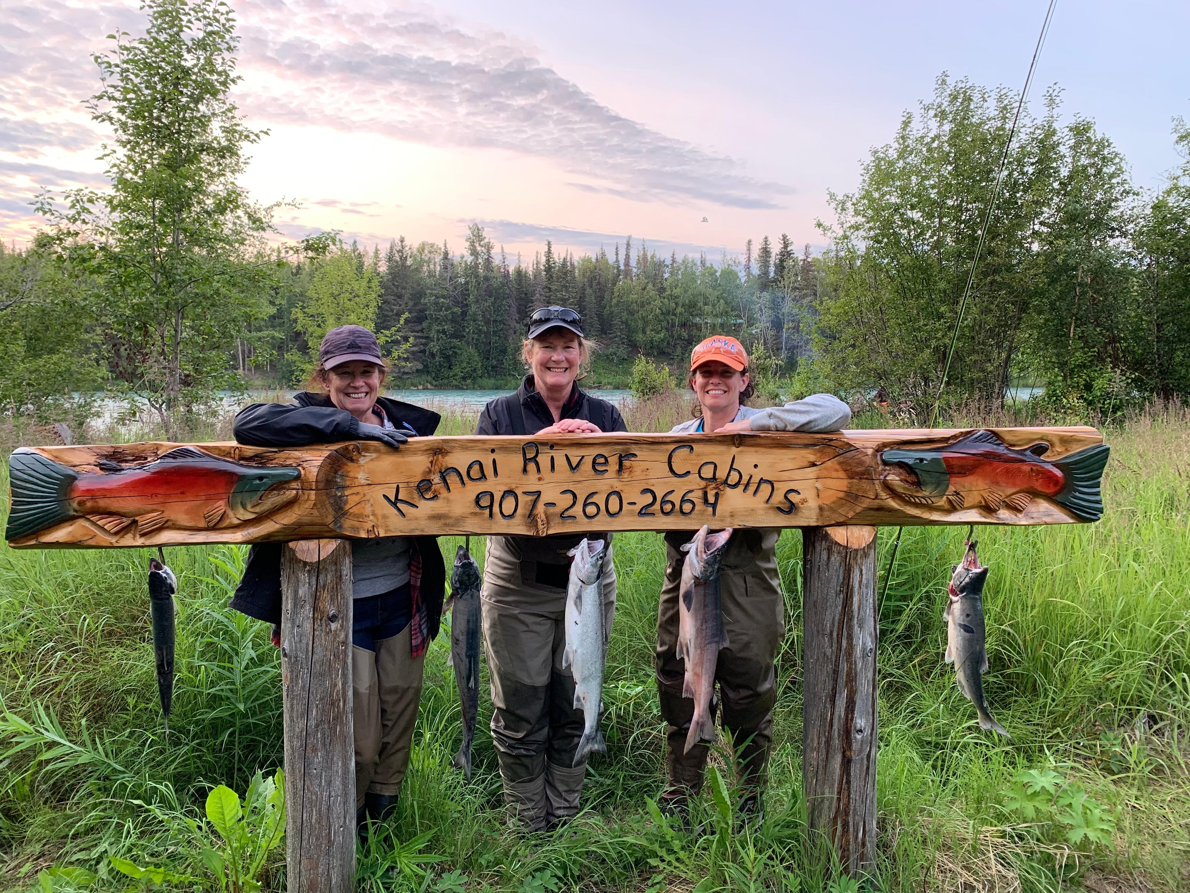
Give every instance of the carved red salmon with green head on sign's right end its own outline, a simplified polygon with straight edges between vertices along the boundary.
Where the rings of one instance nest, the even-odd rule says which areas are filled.
[[[1013,449],[991,431],[976,431],[942,447],[884,450],[881,461],[895,469],[884,479],[889,489],[917,505],[1023,512],[1045,497],[1081,520],[1098,520],[1110,448],[1101,443],[1053,462],[1042,458],[1048,450],[1046,443]]]

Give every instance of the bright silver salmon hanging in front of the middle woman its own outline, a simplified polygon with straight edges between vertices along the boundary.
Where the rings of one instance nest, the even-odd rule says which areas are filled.
[[[575,706],[582,707],[585,726],[572,766],[589,754],[607,753],[599,714],[603,707],[603,661],[609,630],[603,624],[605,539],[583,539],[570,550],[570,582],[566,586],[566,647],[562,667],[575,676]]]

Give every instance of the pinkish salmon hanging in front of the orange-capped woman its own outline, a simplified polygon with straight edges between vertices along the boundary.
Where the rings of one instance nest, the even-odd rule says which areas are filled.
[[[687,545],[678,589],[677,656],[685,663],[682,697],[694,699],[694,718],[685,736],[685,753],[699,742],[714,742],[710,697],[715,689],[719,650],[727,648],[719,592],[719,567],[732,529],[712,533],[707,525]]]

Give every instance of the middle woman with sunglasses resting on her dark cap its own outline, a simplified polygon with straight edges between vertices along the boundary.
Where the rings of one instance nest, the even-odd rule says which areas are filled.
[[[569,435],[627,431],[607,400],[576,379],[590,360],[582,320],[568,307],[543,307],[528,324],[528,375],[515,393],[484,407],[477,435]],[[587,763],[574,766],[583,733],[575,677],[562,667],[570,556],[584,535],[489,536],[481,610],[491,675],[491,738],[505,801],[526,829],[557,826],[578,812]],[[600,536],[587,533],[588,539]],[[615,613],[612,535],[603,566],[605,629]]]

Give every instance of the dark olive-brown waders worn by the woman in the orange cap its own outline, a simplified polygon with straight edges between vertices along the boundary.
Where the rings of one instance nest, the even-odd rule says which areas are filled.
[[[779,530],[737,530],[727,545],[720,573],[724,626],[728,647],[719,652],[715,680],[724,729],[735,743],[737,783],[745,808],[756,807],[764,787],[777,701],[774,663],[785,632],[784,599],[777,574]],[[657,610],[657,695],[666,727],[664,804],[683,808],[702,791],[703,769],[710,748],[695,744],[684,754],[685,736],[694,717],[694,700],[682,697],[685,663],[676,655],[678,586],[685,552],[678,548],[693,533],[665,535],[665,583]],[[716,704],[712,701],[714,716]]]

